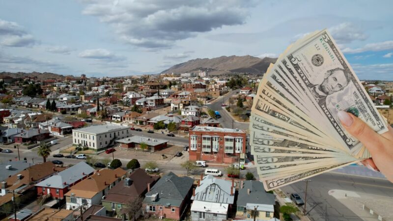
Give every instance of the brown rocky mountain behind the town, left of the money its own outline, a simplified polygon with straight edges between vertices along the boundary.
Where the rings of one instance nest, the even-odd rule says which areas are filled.
[[[246,56],[221,56],[215,58],[197,58],[184,63],[176,64],[162,73],[189,73],[199,70],[209,72],[209,75],[252,73],[263,74],[270,63],[275,63],[277,58]]]

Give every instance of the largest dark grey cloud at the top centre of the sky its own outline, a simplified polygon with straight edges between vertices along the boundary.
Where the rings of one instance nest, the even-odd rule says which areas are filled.
[[[242,25],[251,1],[85,1],[83,14],[110,24],[119,39],[142,48],[168,48],[177,40],[223,26]]]

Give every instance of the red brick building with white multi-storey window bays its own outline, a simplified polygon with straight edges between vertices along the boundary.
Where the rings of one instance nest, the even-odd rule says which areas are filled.
[[[243,130],[195,126],[190,130],[190,161],[232,164],[242,157],[244,163],[246,139]]]

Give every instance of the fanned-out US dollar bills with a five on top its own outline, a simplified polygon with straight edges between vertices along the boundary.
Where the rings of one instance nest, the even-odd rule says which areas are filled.
[[[316,31],[270,64],[253,101],[250,145],[267,191],[371,157],[338,111],[388,131],[330,33]]]

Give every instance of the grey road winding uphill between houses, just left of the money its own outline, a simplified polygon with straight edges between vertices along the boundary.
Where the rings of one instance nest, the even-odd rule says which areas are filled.
[[[221,118],[219,118],[218,121],[224,128],[232,128],[232,122],[233,122],[233,128],[248,130],[249,123],[240,123],[240,122],[233,121],[232,117],[221,107],[221,105],[225,103],[237,91],[238,90],[229,91],[222,98],[216,99],[211,104],[208,104],[206,106],[213,111],[220,111]]]

